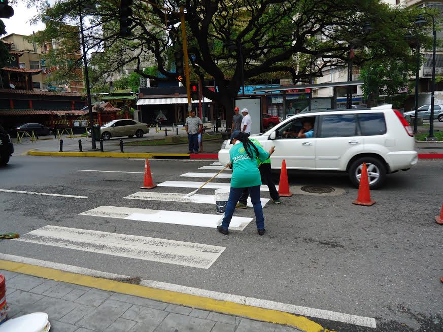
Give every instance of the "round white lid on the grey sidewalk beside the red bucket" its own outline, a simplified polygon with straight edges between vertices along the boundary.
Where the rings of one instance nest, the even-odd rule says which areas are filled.
[[[50,328],[48,314],[35,312],[7,320],[0,325],[0,332],[48,332]]]

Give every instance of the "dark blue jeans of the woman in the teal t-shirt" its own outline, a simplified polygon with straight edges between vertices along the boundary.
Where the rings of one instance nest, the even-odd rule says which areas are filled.
[[[242,195],[244,188],[232,188],[229,192],[228,204],[226,205],[225,217],[223,218],[222,227],[229,229],[229,223],[232,219],[232,214],[234,214],[235,204],[237,204],[240,195]],[[264,216],[263,209],[260,201],[260,186],[248,187],[249,194],[251,195],[251,202],[254,206],[255,213],[255,224],[257,229],[264,229]]]

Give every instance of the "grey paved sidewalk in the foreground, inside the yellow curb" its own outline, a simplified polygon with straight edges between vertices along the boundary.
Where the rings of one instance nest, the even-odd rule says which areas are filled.
[[[301,331],[10,271],[0,274],[6,278],[8,318],[46,312],[51,332]]]

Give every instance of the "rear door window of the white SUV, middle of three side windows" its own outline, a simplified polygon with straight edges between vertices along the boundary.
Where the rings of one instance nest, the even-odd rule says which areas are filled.
[[[322,116],[320,137],[357,136],[354,114]]]

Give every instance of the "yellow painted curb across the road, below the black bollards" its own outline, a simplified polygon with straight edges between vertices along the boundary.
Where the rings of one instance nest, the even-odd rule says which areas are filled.
[[[122,153],[122,152],[46,152],[29,151],[29,156],[50,157],[112,157],[112,158],[155,158],[155,157],[188,157],[189,154],[173,153]]]

